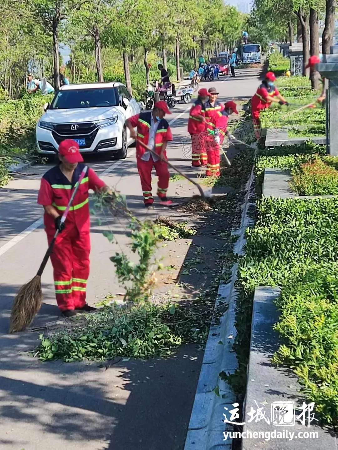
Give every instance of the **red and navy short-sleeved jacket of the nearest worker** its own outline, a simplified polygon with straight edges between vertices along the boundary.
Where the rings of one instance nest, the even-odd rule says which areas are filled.
[[[79,163],[73,173],[72,183],[63,175],[59,166],[55,166],[43,175],[41,179],[40,190],[37,202],[42,206],[54,206],[62,216],[66,210],[68,202],[71,198],[77,180],[85,164]],[[79,189],[74,197],[72,207],[68,212],[65,222],[65,229],[76,226],[79,231],[89,231],[90,214],[89,214],[89,194],[88,190],[95,191],[105,186],[104,181],[100,180],[93,169],[88,168],[86,175],[81,181]],[[55,233],[54,219],[45,212],[44,224],[47,234]]]

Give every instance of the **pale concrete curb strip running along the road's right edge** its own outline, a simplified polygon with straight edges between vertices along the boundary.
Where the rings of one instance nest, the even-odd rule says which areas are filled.
[[[232,229],[231,236],[238,236],[234,245],[234,254],[243,255],[245,244],[245,229],[252,224],[248,217],[249,198],[254,178],[254,166],[246,183],[244,202],[237,208],[242,209],[239,229]],[[236,354],[233,350],[236,338],[235,306],[238,263],[231,270],[229,283],[221,283],[218,287],[214,311],[228,302],[227,311],[221,316],[220,323],[211,325],[204,351],[201,371],[198,378],[194,405],[185,441],[184,450],[218,450],[231,449],[232,440],[223,441],[223,432],[231,431],[231,426],[223,422],[224,408],[229,409],[236,401],[236,396],[230,385],[219,378],[221,371],[234,373],[238,367]],[[223,267],[222,273],[225,273]],[[218,386],[220,396],[214,392]],[[228,405],[228,406],[226,406]]]

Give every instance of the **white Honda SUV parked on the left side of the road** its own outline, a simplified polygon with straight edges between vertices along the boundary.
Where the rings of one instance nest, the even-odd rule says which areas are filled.
[[[74,139],[81,153],[113,151],[127,155],[132,143],[126,119],[140,112],[139,104],[122,83],[62,86],[36,124],[39,153],[53,156],[64,139]]]

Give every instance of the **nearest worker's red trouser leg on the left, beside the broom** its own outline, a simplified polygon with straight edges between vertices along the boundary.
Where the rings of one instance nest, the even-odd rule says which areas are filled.
[[[54,233],[47,234],[48,245],[50,245],[53,237]],[[72,257],[71,236],[69,233],[66,234],[64,230],[63,233],[58,234],[54,243],[53,252],[50,255],[54,274],[55,298],[61,311],[74,309]]]

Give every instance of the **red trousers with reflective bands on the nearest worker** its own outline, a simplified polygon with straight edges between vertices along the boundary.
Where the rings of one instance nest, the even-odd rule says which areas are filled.
[[[54,237],[47,230],[48,245]],[[90,232],[67,224],[58,234],[50,261],[54,269],[56,302],[61,311],[81,309],[86,304],[89,277]]]

